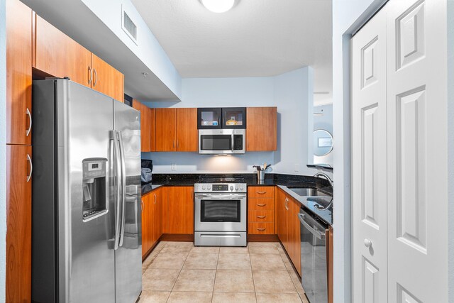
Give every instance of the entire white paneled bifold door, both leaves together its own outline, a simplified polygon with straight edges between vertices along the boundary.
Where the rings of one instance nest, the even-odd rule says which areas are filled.
[[[354,302],[448,302],[446,35],[391,0],[351,40]]]

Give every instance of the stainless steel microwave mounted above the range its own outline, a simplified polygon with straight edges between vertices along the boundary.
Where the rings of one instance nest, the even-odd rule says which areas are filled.
[[[245,152],[245,129],[199,129],[200,154],[241,154]]]

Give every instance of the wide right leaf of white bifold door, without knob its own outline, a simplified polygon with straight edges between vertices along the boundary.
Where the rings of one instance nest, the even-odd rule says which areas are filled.
[[[389,302],[448,302],[446,2],[387,4]]]

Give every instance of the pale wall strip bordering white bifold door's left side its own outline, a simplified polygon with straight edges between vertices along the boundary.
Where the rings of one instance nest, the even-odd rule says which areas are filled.
[[[351,302],[349,34],[384,1],[333,1],[334,302]]]

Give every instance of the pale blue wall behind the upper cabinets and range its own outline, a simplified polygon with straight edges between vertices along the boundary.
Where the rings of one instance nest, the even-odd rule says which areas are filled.
[[[312,136],[313,78],[311,67],[276,77],[192,78],[182,80],[181,102],[147,102],[150,107],[277,106],[277,152],[231,157],[198,153],[143,153],[153,172],[253,172],[252,165],[272,164],[273,172],[310,175],[306,167]],[[175,163],[177,170],[171,170]],[[297,168],[296,168],[297,167]],[[296,171],[297,170],[297,171]],[[313,174],[313,173],[312,173]]]

